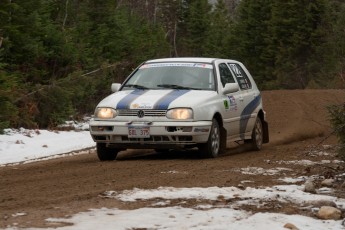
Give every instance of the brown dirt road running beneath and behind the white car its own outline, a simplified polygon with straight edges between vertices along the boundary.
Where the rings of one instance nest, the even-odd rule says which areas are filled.
[[[0,168],[0,228],[47,227],[45,218],[65,217],[89,208],[137,208],[145,202],[127,204],[100,197],[104,191],[136,188],[238,186],[250,180],[251,187],[277,185],[279,175],[248,175],[246,167],[270,169],[282,162],[334,160],[336,138],[326,138],[331,129],[325,106],[345,102],[344,90],[265,91],[271,143],[261,152],[228,143],[217,159],[199,159],[197,152],[157,154],[150,150],[120,153],[117,161],[99,162],[89,154]],[[329,154],[316,154],[327,151]],[[344,163],[289,164],[285,176],[321,175],[330,178],[344,172]],[[165,173],[178,171],[181,173]],[[279,182],[282,184],[283,182]],[[340,183],[340,182],[339,182]],[[335,184],[338,197],[345,197]],[[256,210],[252,210],[256,211]],[[260,210],[258,210],[260,211]],[[293,207],[266,207],[265,211],[298,213]],[[18,213],[26,213],[20,216]],[[52,226],[50,226],[52,227]]]

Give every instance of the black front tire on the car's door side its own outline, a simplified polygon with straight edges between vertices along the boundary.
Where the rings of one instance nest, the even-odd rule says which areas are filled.
[[[212,120],[210,135],[205,144],[199,145],[199,151],[204,158],[216,158],[221,151],[220,126],[216,119]]]

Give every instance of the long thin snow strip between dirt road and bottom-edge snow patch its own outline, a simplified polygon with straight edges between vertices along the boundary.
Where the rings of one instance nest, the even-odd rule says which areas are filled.
[[[310,202],[325,200],[334,202],[339,208],[345,209],[345,199],[310,194],[303,192],[303,185],[279,185],[271,188],[251,188],[247,187],[242,190],[237,187],[208,187],[208,188],[173,188],[159,187],[157,189],[138,189],[125,190],[122,192],[106,191],[101,194],[105,198],[114,198],[123,202],[135,202],[137,200],[149,199],[196,199],[196,200],[217,200],[219,197],[223,199],[241,200],[241,205],[255,201],[279,201],[290,202],[298,205]],[[232,202],[232,205],[237,205]]]

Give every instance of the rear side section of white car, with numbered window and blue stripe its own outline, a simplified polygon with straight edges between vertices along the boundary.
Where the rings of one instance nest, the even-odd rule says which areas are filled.
[[[241,139],[244,139],[245,134],[250,135],[257,116],[256,108],[261,101],[261,96],[257,90],[253,90],[253,84],[249,77],[238,63],[227,63],[232,74],[240,86],[240,124],[239,133]]]

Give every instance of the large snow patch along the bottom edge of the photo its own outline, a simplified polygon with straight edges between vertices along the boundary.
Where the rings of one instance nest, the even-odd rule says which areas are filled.
[[[229,208],[215,208],[210,210],[196,210],[192,208],[140,208],[135,210],[92,209],[79,213],[72,218],[48,219],[51,223],[73,224],[62,229],[241,229],[241,230],[286,230],[284,225],[292,223],[303,230],[341,230],[341,221],[316,220],[300,215],[286,215],[279,213],[256,213],[234,210]],[[59,228],[58,228],[59,229]]]

